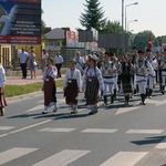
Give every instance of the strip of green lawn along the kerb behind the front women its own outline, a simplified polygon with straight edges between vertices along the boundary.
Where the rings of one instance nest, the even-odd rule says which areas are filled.
[[[63,80],[56,81],[56,87],[62,87]],[[37,91],[41,91],[42,82],[27,84],[27,85],[6,85],[4,93],[6,97],[12,97],[17,95],[28,94]]]

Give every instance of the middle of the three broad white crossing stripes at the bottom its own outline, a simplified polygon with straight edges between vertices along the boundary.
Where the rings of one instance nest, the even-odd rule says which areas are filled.
[[[32,166],[66,166],[87,153],[90,153],[90,151],[64,149]]]

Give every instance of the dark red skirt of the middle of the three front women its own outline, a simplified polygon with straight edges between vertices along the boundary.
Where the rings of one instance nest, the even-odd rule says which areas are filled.
[[[77,105],[77,83],[76,80],[69,80],[68,86],[64,91],[65,102],[68,105]]]

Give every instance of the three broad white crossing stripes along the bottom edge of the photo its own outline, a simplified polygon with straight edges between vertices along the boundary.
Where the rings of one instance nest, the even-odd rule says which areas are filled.
[[[29,148],[29,147],[13,147],[0,153],[0,165],[6,164],[8,166],[9,162],[14,159],[21,159],[21,157],[29,157],[28,155],[32,154],[35,156],[35,153],[41,151],[40,148]],[[46,156],[43,159],[35,160],[32,166],[68,166],[76,162],[82,157],[87,157],[93,153],[89,149],[63,149],[55,154]],[[118,152],[107,159],[100,163],[97,166],[135,166],[144,158],[144,164],[146,166],[145,156],[148,156],[148,152]],[[94,158],[95,159],[95,158]],[[18,166],[22,166],[21,164]]]

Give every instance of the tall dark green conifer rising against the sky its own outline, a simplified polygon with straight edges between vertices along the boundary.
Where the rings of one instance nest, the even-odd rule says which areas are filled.
[[[85,13],[81,13],[80,23],[86,30],[91,30],[91,28],[100,31],[105,24],[106,18],[104,18],[104,12],[102,11],[102,7],[100,7],[98,0],[85,0],[86,4],[84,4]]]

